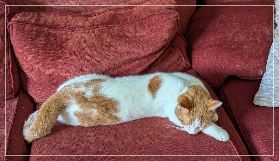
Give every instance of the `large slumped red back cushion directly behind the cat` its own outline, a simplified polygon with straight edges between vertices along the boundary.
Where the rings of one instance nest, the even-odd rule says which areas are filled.
[[[161,2],[137,2],[154,3]],[[82,74],[126,76],[190,68],[176,6],[19,13],[9,29],[22,87],[37,103]]]

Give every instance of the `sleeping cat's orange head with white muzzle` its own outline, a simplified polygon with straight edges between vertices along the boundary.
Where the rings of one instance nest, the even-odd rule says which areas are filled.
[[[174,113],[189,134],[196,134],[210,124],[221,104],[200,85],[190,85],[178,97]]]

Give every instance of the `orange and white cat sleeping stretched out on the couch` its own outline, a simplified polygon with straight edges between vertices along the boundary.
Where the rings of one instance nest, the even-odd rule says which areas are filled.
[[[217,140],[229,135],[213,122],[222,102],[185,73],[154,73],[111,78],[88,74],[62,84],[24,123],[26,142],[51,133],[56,120],[72,126],[120,124],[144,117],[168,117],[177,129],[199,131]],[[213,122],[212,122],[213,121]]]

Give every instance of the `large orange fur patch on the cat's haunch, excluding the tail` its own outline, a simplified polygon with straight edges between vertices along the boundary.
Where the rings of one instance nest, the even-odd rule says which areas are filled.
[[[74,93],[76,104],[81,111],[74,112],[78,122],[82,126],[111,125],[120,123],[120,119],[115,116],[119,112],[119,103],[111,98],[99,94],[103,80],[90,80],[83,83],[85,88],[91,88],[91,97],[86,97],[84,92]]]

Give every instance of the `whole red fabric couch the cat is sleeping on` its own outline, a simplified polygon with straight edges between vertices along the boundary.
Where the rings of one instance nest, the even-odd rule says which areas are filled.
[[[259,71],[265,69],[273,42],[273,6],[7,6],[5,20],[5,5],[123,3],[273,5],[274,1],[1,0],[1,19],[7,25],[2,23],[0,37],[4,53],[6,29],[6,60],[4,54],[0,57],[2,87],[6,69],[6,98],[3,90],[0,93],[1,160],[279,160],[276,139],[275,156],[249,156],[273,155],[273,108],[253,104],[262,78]],[[200,78],[212,97],[223,101],[217,124],[228,131],[230,140],[164,128],[166,118],[152,117],[89,128],[57,122],[50,135],[32,144],[24,142],[24,120],[63,81],[93,72],[123,76],[155,71],[183,71]],[[275,108],[274,115],[278,113]],[[278,119],[274,121],[276,138]]]

